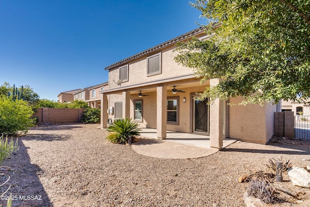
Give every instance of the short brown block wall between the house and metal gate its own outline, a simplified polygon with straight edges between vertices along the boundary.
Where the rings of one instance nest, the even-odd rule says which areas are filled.
[[[294,112],[274,112],[275,136],[294,138]]]

